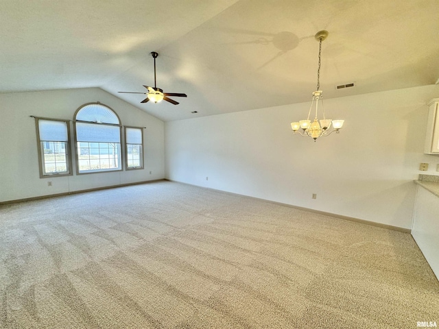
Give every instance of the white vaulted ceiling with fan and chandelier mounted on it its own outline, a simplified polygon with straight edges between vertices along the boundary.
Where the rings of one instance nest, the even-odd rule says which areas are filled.
[[[1,0],[0,93],[100,87],[164,121],[434,84],[438,0]],[[178,106],[118,91],[157,86]],[[337,90],[335,86],[355,82]],[[197,114],[191,114],[198,111]]]

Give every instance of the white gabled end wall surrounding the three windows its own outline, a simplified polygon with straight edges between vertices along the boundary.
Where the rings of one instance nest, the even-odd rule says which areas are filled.
[[[40,178],[36,117],[73,119],[84,103],[109,106],[122,125],[144,130],[145,169]],[[71,126],[73,143],[73,126]],[[73,153],[72,153],[73,154]],[[152,171],[152,174],[150,174]],[[99,88],[0,94],[0,202],[164,178],[164,123]],[[52,186],[47,186],[47,181]]]

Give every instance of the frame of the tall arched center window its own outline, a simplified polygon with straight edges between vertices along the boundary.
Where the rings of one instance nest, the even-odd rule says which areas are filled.
[[[82,108],[89,106],[89,105],[99,105],[99,106],[104,106],[105,108],[108,108],[108,110],[110,110],[112,113],[115,114],[115,116],[117,117],[117,120],[119,121],[119,124],[115,124],[115,123],[97,123],[97,122],[93,122],[93,121],[83,121],[83,120],[76,120],[77,114],[78,112],[80,112],[80,110],[82,110]],[[119,127],[119,168],[116,169],[95,169],[95,170],[89,170],[89,171],[80,171],[80,154],[78,154],[78,132],[77,132],[77,128],[76,128],[76,123],[88,123],[88,124],[94,124],[94,125],[108,125],[108,126],[113,126],[113,127]],[[123,171],[123,140],[122,140],[122,125],[121,125],[121,119],[119,118],[119,115],[115,112],[115,110],[113,110],[112,108],[110,108],[110,106],[107,106],[103,103],[100,103],[99,101],[97,102],[91,102],[91,103],[85,103],[82,104],[82,106],[80,106],[78,108],[78,110],[75,111],[75,114],[73,114],[73,130],[74,130],[74,139],[75,139],[75,162],[76,162],[76,175],[88,175],[91,173],[110,173],[110,172],[117,172],[117,171]],[[109,143],[109,142],[95,142],[95,141],[82,141],[79,143]]]

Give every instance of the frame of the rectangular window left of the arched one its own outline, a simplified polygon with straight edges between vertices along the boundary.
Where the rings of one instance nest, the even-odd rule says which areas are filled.
[[[38,149],[38,170],[40,173],[40,178],[53,178],[53,177],[62,177],[62,176],[71,176],[73,175],[72,170],[72,160],[71,160],[71,138],[70,138],[70,120],[64,119],[53,119],[46,117],[34,117],[35,119],[35,127],[36,127],[36,145]],[[40,120],[45,121],[59,121],[66,124],[67,127],[67,141],[63,141],[61,143],[65,143],[65,151],[66,151],[66,169],[67,172],[62,173],[46,173],[45,172],[45,157],[44,157],[44,147],[42,143],[60,143],[60,141],[42,141],[40,139]]]

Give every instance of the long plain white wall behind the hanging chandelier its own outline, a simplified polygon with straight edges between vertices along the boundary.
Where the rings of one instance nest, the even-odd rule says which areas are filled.
[[[327,117],[345,125],[316,143],[289,125],[309,103],[170,121],[166,177],[411,228],[419,163],[439,163],[423,154],[426,103],[438,96],[432,85],[326,99]]]

